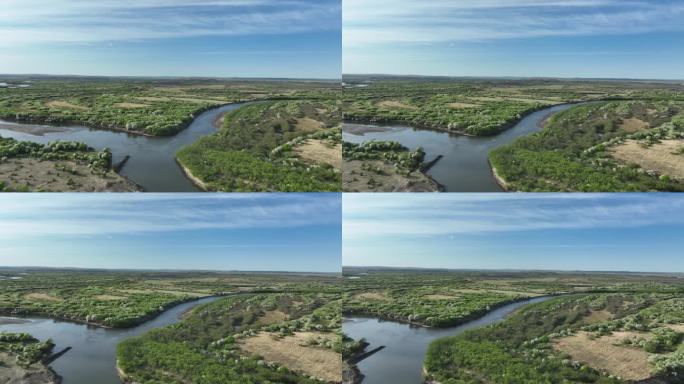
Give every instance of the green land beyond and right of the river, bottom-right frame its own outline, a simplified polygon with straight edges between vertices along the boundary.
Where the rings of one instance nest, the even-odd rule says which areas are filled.
[[[447,320],[434,326],[463,319],[455,308],[474,299],[485,307],[495,295],[553,296],[435,340],[424,362],[429,383],[678,383],[684,373],[677,275],[346,268],[344,276],[344,313]]]

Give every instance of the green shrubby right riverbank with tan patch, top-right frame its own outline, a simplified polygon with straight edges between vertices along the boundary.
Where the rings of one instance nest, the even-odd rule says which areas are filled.
[[[585,104],[490,153],[514,191],[684,190],[684,96]]]

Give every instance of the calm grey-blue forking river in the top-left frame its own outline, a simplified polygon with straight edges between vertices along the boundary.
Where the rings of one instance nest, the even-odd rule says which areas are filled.
[[[198,188],[185,177],[176,163],[176,152],[198,138],[216,132],[214,121],[222,114],[242,105],[230,104],[206,111],[197,116],[186,129],[172,137],[145,137],[78,125],[54,127],[2,120],[0,120],[0,136],[43,144],[56,140],[68,140],[82,141],[96,149],[108,147],[112,150],[114,163],[119,162],[126,155],[130,156],[121,169],[121,174],[142,186],[145,191],[196,192]]]

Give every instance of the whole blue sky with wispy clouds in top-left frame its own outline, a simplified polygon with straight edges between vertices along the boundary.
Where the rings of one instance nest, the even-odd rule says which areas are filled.
[[[3,0],[0,73],[338,79],[341,0]]]

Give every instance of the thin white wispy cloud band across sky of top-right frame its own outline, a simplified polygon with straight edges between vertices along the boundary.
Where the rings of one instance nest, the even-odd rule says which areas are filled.
[[[682,31],[678,1],[345,0],[343,44],[488,41]]]

